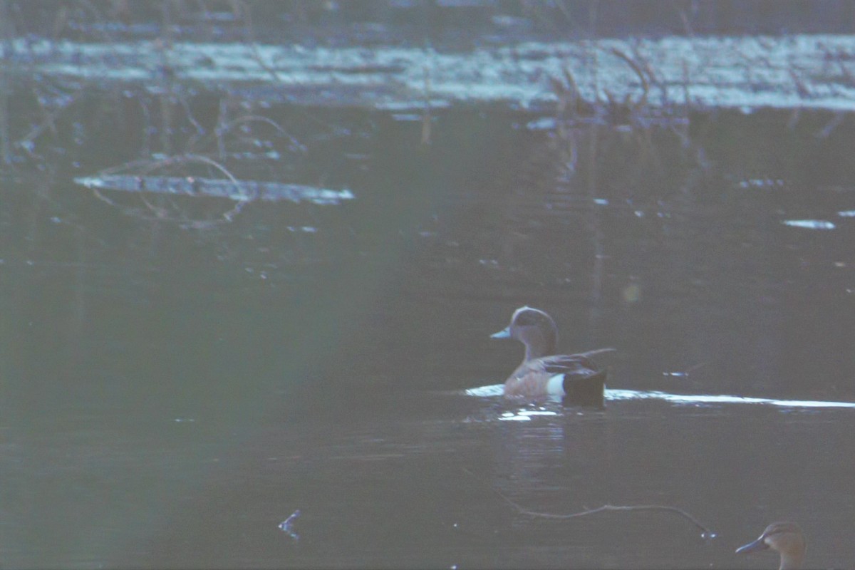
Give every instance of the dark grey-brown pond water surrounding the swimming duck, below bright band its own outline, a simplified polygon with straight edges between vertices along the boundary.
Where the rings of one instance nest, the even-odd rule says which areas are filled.
[[[205,229],[74,185],[119,136],[7,180],[0,565],[775,567],[733,551],[779,519],[850,564],[855,409],[463,393],[520,360],[488,335],[528,304],[564,350],[615,347],[613,389],[855,402],[852,132],[788,118],[454,112],[422,145],[324,115],[348,130],[295,181],[352,201]]]

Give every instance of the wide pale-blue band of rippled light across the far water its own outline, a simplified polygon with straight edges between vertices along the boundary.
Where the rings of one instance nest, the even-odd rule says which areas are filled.
[[[248,52],[243,44],[205,44],[175,41],[168,53],[173,73],[180,79],[210,82],[266,82],[295,100],[316,103],[318,91],[333,91],[333,85],[349,85],[351,104],[386,111],[421,109],[426,97],[424,81],[431,79],[429,105],[439,109],[460,101],[489,103],[514,101],[522,108],[554,103],[556,94],[533,76],[561,77],[574,69],[574,85],[581,97],[599,100],[604,93],[628,97],[637,79],[613,56],[613,51],[644,53],[646,65],[657,70],[663,83],[683,85],[692,101],[707,107],[852,109],[852,86],[834,73],[795,73],[799,69],[828,65],[828,53],[848,53],[852,38],[847,35],[797,35],[758,38],[704,37],[599,38],[602,50],[590,63],[590,48],[578,42],[510,41],[509,45],[474,47],[472,50],[423,50],[405,46],[361,47],[326,45],[256,44]],[[637,45],[636,45],[637,44]],[[12,44],[10,44],[12,45]],[[35,57],[39,73],[62,77],[97,78],[101,81],[151,80],[160,52],[140,50],[136,42],[105,44],[56,44],[48,40],[20,38],[15,52]],[[122,66],[115,65],[121,56]],[[714,56],[716,65],[709,65]],[[287,69],[271,74],[261,60]],[[200,60],[209,62],[199,65]],[[756,62],[762,61],[758,65]],[[334,62],[334,63],[333,63]],[[753,73],[746,75],[750,65]],[[374,68],[370,70],[369,68]],[[363,73],[349,73],[361,71]],[[365,73],[372,71],[373,73]],[[280,73],[282,71],[280,70]],[[755,77],[755,73],[763,79]],[[286,80],[283,80],[285,78]],[[306,85],[314,88],[307,89]],[[394,85],[394,88],[392,88]],[[629,86],[629,87],[628,87]],[[811,91],[805,97],[803,90]],[[340,90],[349,93],[350,90]],[[377,93],[380,93],[378,95]],[[370,97],[368,94],[373,94]],[[269,94],[268,94],[269,97]],[[688,95],[687,95],[688,97]],[[668,99],[668,97],[664,97]]]

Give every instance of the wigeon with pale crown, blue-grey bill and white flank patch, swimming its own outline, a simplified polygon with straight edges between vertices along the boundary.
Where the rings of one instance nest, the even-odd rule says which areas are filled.
[[[577,355],[555,354],[558,329],[540,309],[520,307],[510,325],[490,338],[516,338],[526,346],[522,364],[504,382],[504,397],[539,399],[560,397],[564,403],[602,406],[605,371],[588,356],[613,349]]]

